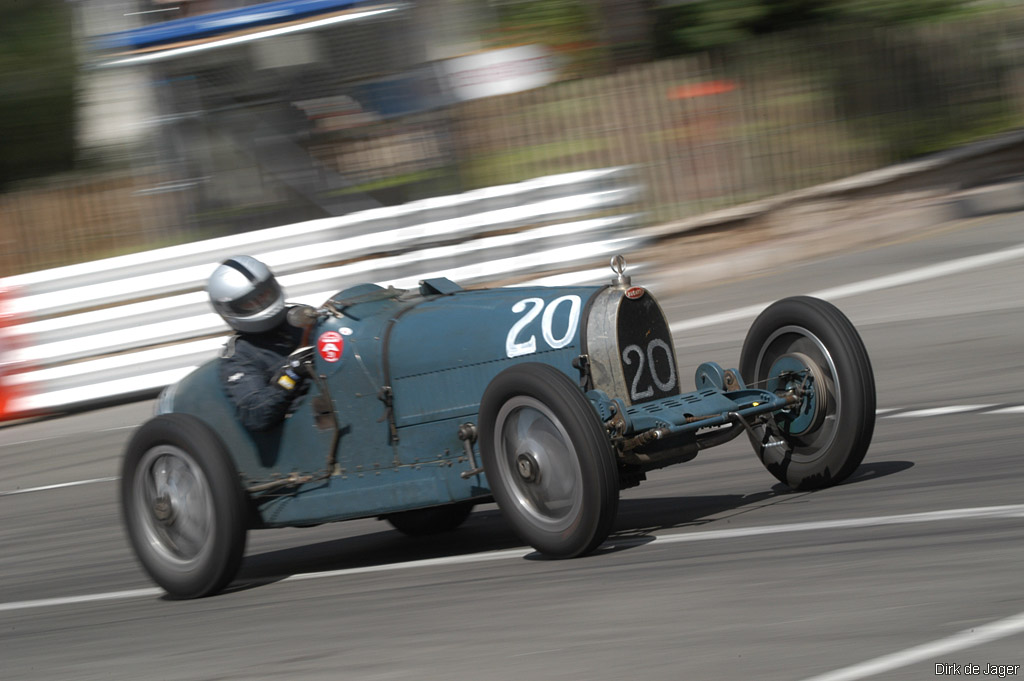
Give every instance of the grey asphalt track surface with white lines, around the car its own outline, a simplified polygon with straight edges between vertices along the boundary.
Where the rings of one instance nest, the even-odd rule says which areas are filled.
[[[582,559],[487,505],[429,540],[252,533],[226,593],[171,601],[115,502],[152,405],[0,428],[0,678],[1024,678],[1022,244],[1000,215],[663,298],[688,373],[738,363],[752,305],[824,292],[870,353],[874,439],[817,493],[738,440],[652,473]]]

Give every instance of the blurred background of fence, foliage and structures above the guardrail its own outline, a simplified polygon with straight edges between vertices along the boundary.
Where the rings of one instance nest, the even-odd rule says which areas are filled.
[[[573,170],[647,223],[1020,127],[985,0],[0,0],[0,275]]]

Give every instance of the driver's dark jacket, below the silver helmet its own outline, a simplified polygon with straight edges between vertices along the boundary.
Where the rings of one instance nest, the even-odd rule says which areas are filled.
[[[246,428],[272,428],[302,392],[298,386],[285,390],[270,382],[301,339],[301,330],[283,323],[266,333],[236,334],[227,340],[220,353],[220,383]]]

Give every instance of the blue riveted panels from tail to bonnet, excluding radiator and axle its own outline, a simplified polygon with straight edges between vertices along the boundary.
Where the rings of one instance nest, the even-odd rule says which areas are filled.
[[[511,364],[542,361],[578,376],[572,361],[582,352],[583,310],[599,290],[389,296],[374,285],[355,287],[333,298],[344,301],[341,314],[324,315],[310,331],[323,381],[307,381],[307,393],[280,426],[250,432],[238,423],[216,361],[183,379],[169,409],[193,414],[218,432],[243,486],[325,474],[289,494],[268,495],[258,506],[262,525],[486,498],[482,473],[462,476],[471,465],[459,426],[475,420],[483,389]],[[331,471],[325,466],[334,429],[317,419],[324,386],[340,428]]]

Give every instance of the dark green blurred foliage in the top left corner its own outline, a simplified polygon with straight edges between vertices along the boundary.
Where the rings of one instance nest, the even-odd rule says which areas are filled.
[[[63,0],[0,0],[0,188],[74,163],[71,11]]]

